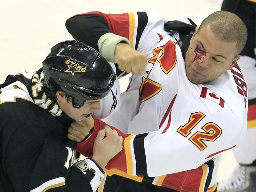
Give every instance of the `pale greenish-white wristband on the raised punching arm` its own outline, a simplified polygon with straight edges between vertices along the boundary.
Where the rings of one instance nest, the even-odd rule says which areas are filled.
[[[115,63],[115,49],[116,45],[120,42],[125,42],[130,45],[126,37],[114,33],[105,33],[98,41],[99,51],[108,61]]]

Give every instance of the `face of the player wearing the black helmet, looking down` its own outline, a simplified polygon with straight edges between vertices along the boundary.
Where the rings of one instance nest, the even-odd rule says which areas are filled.
[[[74,119],[75,121],[82,121],[85,116],[91,114],[94,111],[100,110],[100,100],[86,100],[84,105],[81,108],[74,108],[71,102],[67,102],[66,97],[58,96],[57,94],[57,101],[64,113],[66,113],[70,118]]]

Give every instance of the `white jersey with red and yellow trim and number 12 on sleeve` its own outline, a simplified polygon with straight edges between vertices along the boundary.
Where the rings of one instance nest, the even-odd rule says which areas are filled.
[[[66,22],[74,38],[91,46],[112,32],[148,56],[146,70],[132,75],[119,106],[106,119],[125,133],[136,133],[123,134],[123,149],[106,169],[176,191],[216,191],[220,152],[233,148],[246,131],[246,81],[236,64],[214,81],[191,83],[179,39],[164,31],[164,23],[151,12],[89,12]],[[95,119],[94,131],[103,125]],[[79,152],[90,154],[95,132],[78,144]]]

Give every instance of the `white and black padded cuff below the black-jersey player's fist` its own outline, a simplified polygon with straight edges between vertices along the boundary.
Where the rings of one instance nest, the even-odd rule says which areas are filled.
[[[78,169],[80,169],[84,175],[88,176],[90,180],[90,184],[92,187],[92,191],[96,192],[101,180],[104,177],[104,171],[95,164],[95,161],[87,158],[81,161],[78,161],[74,164]],[[93,176],[91,176],[93,175]]]

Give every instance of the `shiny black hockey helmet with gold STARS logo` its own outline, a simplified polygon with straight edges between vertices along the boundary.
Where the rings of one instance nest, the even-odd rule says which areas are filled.
[[[72,97],[74,108],[85,100],[105,97],[113,86],[116,75],[108,61],[95,49],[76,40],[63,41],[51,49],[43,61],[44,89],[56,99],[63,91]]]

